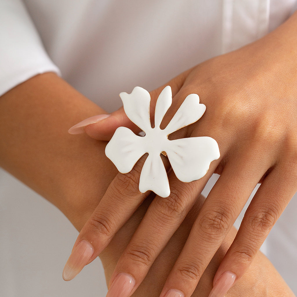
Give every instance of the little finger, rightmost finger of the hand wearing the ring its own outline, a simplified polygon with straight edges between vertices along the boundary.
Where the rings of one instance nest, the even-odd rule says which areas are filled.
[[[287,170],[280,166],[263,181],[214,277],[214,296],[225,294],[234,281],[247,271],[271,228],[296,192],[294,184],[288,183]],[[228,286],[223,285],[226,279],[227,282],[230,280]]]

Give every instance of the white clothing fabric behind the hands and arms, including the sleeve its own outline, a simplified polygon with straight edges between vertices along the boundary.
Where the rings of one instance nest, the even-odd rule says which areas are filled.
[[[256,40],[287,19],[296,2],[0,0],[0,94],[60,69],[76,89],[112,111],[121,105],[121,91],[154,89],[205,59]],[[77,235],[63,215],[3,171],[0,187],[0,296],[105,296],[98,261],[74,281],[62,281]],[[296,204],[295,198],[265,245],[295,293]]]

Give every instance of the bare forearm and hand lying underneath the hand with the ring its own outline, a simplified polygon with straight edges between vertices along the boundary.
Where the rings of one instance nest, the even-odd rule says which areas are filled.
[[[81,230],[117,171],[106,142],[72,136],[69,126],[104,111],[53,73],[35,76],[0,99],[1,166],[56,205]],[[106,170],[108,168],[108,170]],[[154,197],[149,197],[100,254],[107,282]],[[159,255],[134,296],[158,296],[203,203],[200,198]],[[232,230],[208,265],[193,296],[208,296],[212,277],[230,246]],[[294,296],[259,254],[228,296]]]

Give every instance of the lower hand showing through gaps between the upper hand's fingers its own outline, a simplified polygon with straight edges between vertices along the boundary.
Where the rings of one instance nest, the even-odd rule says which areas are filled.
[[[144,201],[100,254],[107,282],[109,282],[116,263],[131,240],[133,233],[141,222],[153,198],[154,196],[151,196]],[[182,224],[170,238],[166,247],[154,261],[143,282],[133,293],[133,297],[158,297],[160,295],[166,278],[187,240],[187,236],[203,201],[204,198],[202,196],[197,199],[195,206],[187,214]],[[233,227],[208,264],[192,297],[207,297],[209,295],[214,274],[235,236],[236,230]],[[245,297],[294,297],[294,294],[287,287],[273,265],[261,252],[256,255],[246,274],[225,296],[239,297],[243,296],[243,294]]]

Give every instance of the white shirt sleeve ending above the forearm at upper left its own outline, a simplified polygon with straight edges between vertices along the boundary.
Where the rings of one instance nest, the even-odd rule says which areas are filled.
[[[44,72],[60,75],[21,0],[0,1],[0,96]]]

